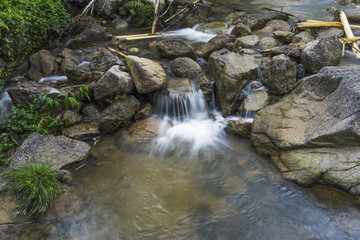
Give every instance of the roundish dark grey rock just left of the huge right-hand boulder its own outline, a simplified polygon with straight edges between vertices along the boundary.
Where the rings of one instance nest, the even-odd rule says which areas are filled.
[[[295,87],[297,67],[291,60],[264,61],[261,71],[263,83],[269,87],[271,94],[284,95]]]

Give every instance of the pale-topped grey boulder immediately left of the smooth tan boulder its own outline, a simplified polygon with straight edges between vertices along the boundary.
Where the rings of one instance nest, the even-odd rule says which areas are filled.
[[[119,69],[118,65],[112,66],[95,84],[94,97],[96,101],[120,93],[131,93],[134,82],[130,74]]]

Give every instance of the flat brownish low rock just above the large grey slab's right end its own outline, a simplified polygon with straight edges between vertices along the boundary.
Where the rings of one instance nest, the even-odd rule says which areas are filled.
[[[66,137],[81,140],[89,137],[97,137],[100,135],[98,124],[96,122],[80,123],[75,126],[63,129]]]

